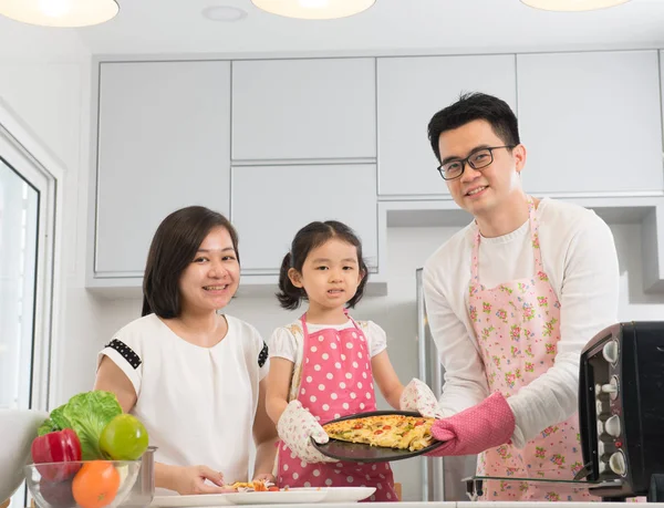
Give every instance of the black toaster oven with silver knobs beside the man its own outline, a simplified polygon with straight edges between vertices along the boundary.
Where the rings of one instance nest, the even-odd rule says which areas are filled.
[[[618,323],[587,344],[579,419],[591,494],[664,500],[664,322]]]

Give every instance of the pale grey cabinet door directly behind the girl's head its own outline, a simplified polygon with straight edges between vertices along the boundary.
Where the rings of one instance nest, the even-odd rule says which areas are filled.
[[[279,272],[298,230],[313,220],[331,219],[355,230],[367,266],[376,267],[373,164],[234,167],[231,204],[242,273]]]

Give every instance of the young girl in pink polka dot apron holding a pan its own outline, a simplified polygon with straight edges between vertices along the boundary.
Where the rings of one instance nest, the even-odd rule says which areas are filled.
[[[432,413],[437,406],[423,383],[414,380],[404,390],[383,329],[347,314],[346,308],[362,298],[366,274],[360,240],[334,220],[302,228],[283,258],[277,294],[281,307],[297,309],[307,300],[309,309],[297,322],[277,329],[270,344],[267,409],[281,438],[280,487],[370,486],[376,488],[372,501],[396,501],[387,463],[338,462],[318,452],[310,437],[326,443],[321,423],[375,411],[373,380],[397,409]]]

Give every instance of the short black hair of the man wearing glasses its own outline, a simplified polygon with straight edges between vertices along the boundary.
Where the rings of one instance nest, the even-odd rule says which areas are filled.
[[[505,101],[479,92],[461,94],[457,102],[436,113],[428,124],[429,143],[438,162],[440,134],[476,120],[488,122],[506,145],[516,146],[521,143],[517,116]]]

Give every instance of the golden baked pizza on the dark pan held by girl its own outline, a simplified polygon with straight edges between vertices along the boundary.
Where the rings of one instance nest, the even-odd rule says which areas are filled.
[[[434,443],[434,422],[424,416],[381,415],[332,422],[323,428],[332,439],[416,452]]]

